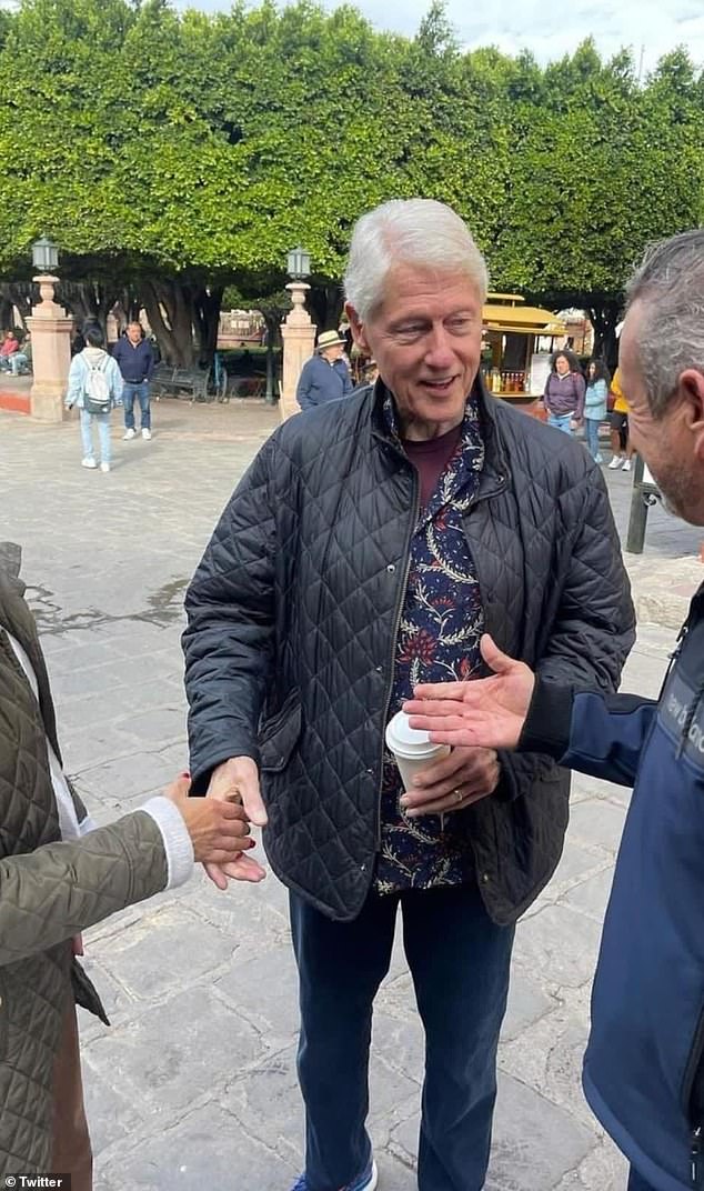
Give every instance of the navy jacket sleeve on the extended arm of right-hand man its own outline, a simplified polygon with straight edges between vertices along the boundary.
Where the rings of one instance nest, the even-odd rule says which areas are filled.
[[[538,678],[518,748],[633,786],[656,707],[654,699],[574,691]]]

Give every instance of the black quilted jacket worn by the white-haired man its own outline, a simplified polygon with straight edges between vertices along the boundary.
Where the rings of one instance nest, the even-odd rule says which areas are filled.
[[[374,873],[384,727],[417,473],[382,388],[291,418],[225,509],[186,596],[193,792],[228,757],[261,763],[264,847],[286,885],[338,919]],[[584,448],[481,393],[486,464],[466,517],[487,631],[552,679],[612,690],[634,612],[609,499]],[[516,919],[549,880],[568,777],[501,756],[466,811],[488,912]]]

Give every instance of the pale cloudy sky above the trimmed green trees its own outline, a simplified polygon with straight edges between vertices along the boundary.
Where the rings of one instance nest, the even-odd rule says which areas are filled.
[[[186,0],[180,6],[186,7]],[[220,0],[191,0],[191,6],[229,8]],[[335,0],[326,0],[325,7],[335,8]],[[429,0],[356,0],[355,7],[379,29],[413,35]],[[527,46],[546,62],[591,35],[604,55],[630,46],[636,68],[644,46],[646,71],[679,44],[704,66],[704,0],[449,0],[448,15],[468,49],[497,45],[517,54]]]

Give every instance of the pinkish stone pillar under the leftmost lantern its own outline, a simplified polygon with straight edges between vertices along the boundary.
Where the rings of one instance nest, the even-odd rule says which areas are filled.
[[[73,318],[67,318],[63,307],[54,301],[54,286],[58,278],[42,275],[33,280],[39,282],[42,301],[27,318],[35,375],[30,410],[38,422],[63,422]]]

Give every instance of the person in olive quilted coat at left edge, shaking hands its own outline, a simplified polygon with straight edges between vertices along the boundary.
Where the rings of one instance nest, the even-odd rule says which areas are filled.
[[[242,807],[188,800],[187,775],[114,823],[89,819],[63,772],[19,562],[0,543],[0,1177],[70,1174],[91,1191],[76,1003],[107,1018],[80,933],[251,844]]]

